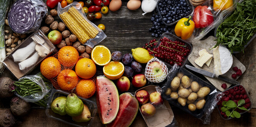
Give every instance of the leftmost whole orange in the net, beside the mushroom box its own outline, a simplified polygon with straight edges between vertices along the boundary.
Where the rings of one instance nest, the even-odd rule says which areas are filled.
[[[55,57],[48,57],[40,65],[40,71],[45,78],[54,78],[59,75],[61,65]]]

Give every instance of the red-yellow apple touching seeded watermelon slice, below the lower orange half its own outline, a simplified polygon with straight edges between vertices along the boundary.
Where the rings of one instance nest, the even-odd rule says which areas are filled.
[[[120,77],[116,82],[117,88],[121,92],[128,91],[130,88],[130,84],[131,83],[129,78],[125,76]]]

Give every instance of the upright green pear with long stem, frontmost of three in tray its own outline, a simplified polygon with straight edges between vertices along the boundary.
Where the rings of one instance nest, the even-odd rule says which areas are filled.
[[[84,110],[84,103],[73,93],[74,89],[67,96],[65,103],[65,111],[69,116],[79,116]]]

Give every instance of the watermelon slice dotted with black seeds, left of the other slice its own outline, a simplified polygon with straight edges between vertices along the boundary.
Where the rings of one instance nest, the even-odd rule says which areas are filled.
[[[119,94],[113,81],[98,76],[96,79],[96,100],[102,124],[113,121],[119,109]]]

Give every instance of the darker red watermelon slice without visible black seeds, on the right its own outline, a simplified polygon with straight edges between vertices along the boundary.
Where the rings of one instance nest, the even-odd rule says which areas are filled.
[[[129,127],[135,119],[139,103],[131,93],[123,93],[119,96],[119,111],[114,121],[106,127]]]

